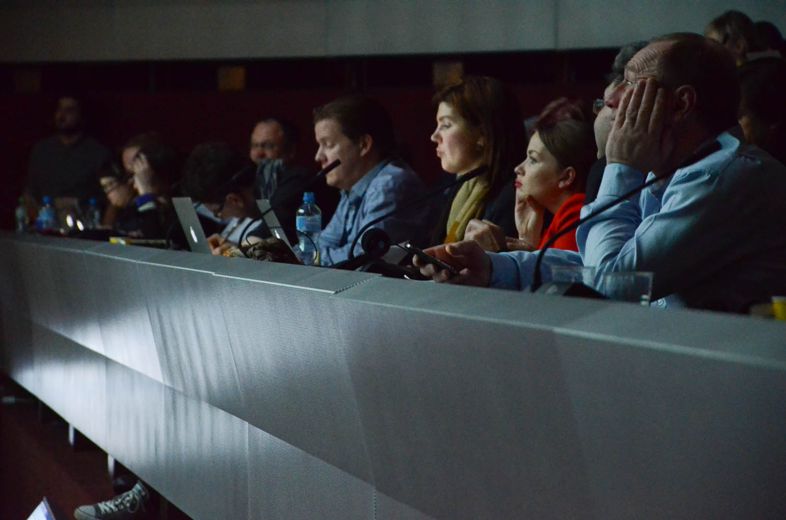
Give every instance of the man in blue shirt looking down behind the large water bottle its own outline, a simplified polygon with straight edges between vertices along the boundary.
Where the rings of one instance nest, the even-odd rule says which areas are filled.
[[[365,95],[340,97],[314,110],[314,157],[322,168],[336,159],[341,164],[325,181],[341,190],[336,213],[319,238],[321,265],[349,257],[350,247],[364,225],[425,195],[421,178],[393,156],[394,135],[390,116],[382,105]],[[375,225],[391,243],[417,240],[428,229],[428,201],[421,207],[385,218]],[[362,255],[360,240],[354,255]]]

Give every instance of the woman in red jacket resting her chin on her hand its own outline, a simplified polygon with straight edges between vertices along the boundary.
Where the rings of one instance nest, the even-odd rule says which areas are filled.
[[[487,251],[534,251],[551,236],[579,218],[589,167],[596,159],[592,125],[578,104],[560,98],[543,110],[534,126],[527,159],[516,167],[516,229],[519,236],[505,237],[498,226],[473,220],[465,238],[476,240]],[[543,215],[554,218],[543,229]],[[557,249],[578,251],[575,232],[560,237]]]

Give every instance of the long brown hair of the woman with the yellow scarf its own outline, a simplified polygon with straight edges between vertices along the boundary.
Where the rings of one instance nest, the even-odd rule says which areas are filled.
[[[525,155],[524,118],[516,94],[498,79],[468,76],[446,86],[434,96],[434,104],[450,104],[469,126],[483,136],[483,164],[489,197],[496,196],[513,177],[513,168]]]

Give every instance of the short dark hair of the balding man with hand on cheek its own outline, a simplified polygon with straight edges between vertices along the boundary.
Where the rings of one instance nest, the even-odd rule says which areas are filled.
[[[740,83],[736,65],[718,42],[691,32],[653,38],[670,42],[658,64],[658,79],[670,89],[690,85],[696,90],[696,120],[720,134],[737,123]]]

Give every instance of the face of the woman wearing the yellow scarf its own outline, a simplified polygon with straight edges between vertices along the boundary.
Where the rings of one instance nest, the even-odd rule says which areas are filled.
[[[444,101],[437,108],[437,129],[432,134],[437,156],[449,174],[465,174],[483,164],[480,130],[471,128],[464,118]]]

